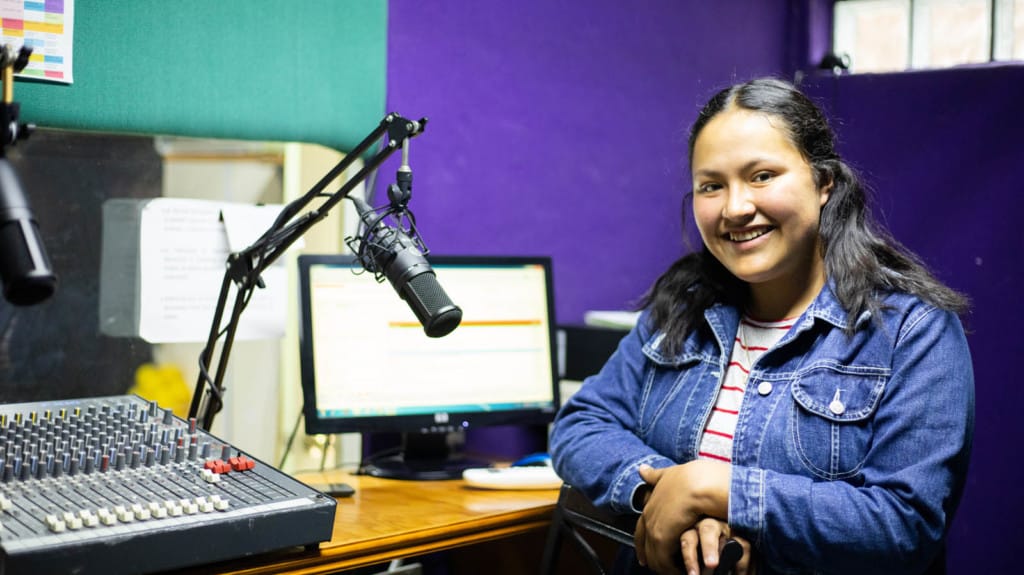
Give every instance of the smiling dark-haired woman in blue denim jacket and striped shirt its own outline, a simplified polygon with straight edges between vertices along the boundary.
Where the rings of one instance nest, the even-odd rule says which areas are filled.
[[[974,425],[966,302],[871,222],[834,142],[773,79],[691,129],[703,247],[551,438],[566,483],[643,512],[629,572],[715,567],[730,537],[740,575],[944,572]]]

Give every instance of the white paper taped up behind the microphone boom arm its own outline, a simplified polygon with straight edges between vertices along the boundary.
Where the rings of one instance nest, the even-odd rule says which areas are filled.
[[[205,342],[228,254],[254,241],[281,209],[171,197],[104,202],[100,331],[151,343]],[[246,308],[239,340],[284,335],[284,266],[281,259],[263,272],[266,288]]]

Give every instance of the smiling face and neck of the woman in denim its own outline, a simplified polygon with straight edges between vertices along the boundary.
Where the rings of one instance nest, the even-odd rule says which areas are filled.
[[[831,182],[771,118],[731,105],[693,146],[693,215],[708,250],[751,285],[755,317],[799,315],[824,284],[819,214]]]

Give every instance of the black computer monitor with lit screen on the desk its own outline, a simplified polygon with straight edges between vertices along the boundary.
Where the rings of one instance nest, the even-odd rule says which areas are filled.
[[[380,477],[445,479],[485,463],[458,449],[473,428],[550,422],[558,408],[547,257],[432,256],[462,323],[428,338],[409,305],[353,256],[299,257],[306,433],[401,432]]]

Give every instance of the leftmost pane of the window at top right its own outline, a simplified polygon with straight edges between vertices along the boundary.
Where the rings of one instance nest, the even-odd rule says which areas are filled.
[[[835,51],[849,54],[851,72],[906,70],[909,18],[909,0],[837,2]]]

